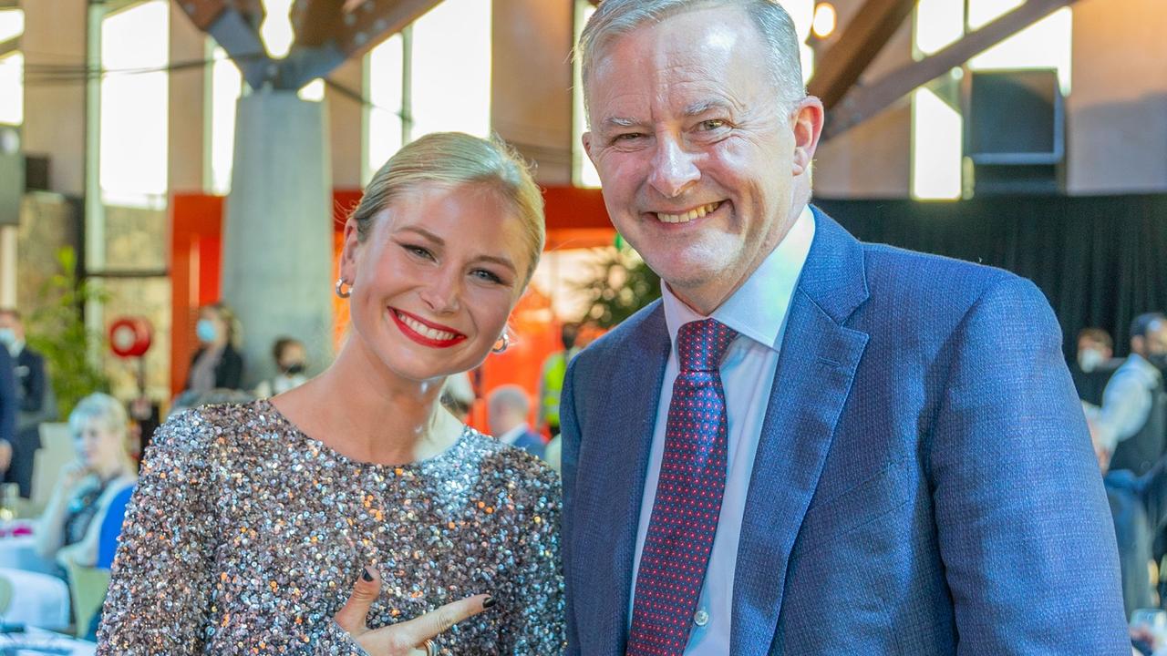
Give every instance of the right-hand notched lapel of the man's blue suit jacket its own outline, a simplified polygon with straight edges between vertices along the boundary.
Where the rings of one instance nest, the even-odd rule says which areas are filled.
[[[843,322],[867,298],[862,247],[815,210],[750,477],[734,574],[731,654],[769,652],[787,565],[867,334]]]

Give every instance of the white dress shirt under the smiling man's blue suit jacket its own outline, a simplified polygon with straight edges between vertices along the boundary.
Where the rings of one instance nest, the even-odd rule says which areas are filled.
[[[754,472],[754,456],[762,432],[762,421],[770,402],[774,374],[785,333],[787,315],[798,275],[802,273],[811,242],[815,239],[815,216],[803,209],[790,232],[761,266],[713,312],[713,319],[733,328],[739,336],[721,361],[721,385],[726,393],[727,446],[726,488],[713,538],[708,568],[701,596],[693,614],[692,630],[685,654],[690,656],[725,656],[729,652],[729,629],[733,617],[733,578],[738,566],[738,543],[746,512],[746,495]],[[669,286],[661,285],[664,317],[672,349],[664,370],[656,428],[649,452],[649,468],[641,502],[641,522],[636,533],[633,561],[633,594],[629,619],[636,603],[636,577],[641,568],[641,551],[652,517],[661,460],[664,456],[664,433],[672,402],[672,384],[677,378],[677,330],[690,321],[707,319],[677,299]],[[629,620],[630,621],[630,620]]]

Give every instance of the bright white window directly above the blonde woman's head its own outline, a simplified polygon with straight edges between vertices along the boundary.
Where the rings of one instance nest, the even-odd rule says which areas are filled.
[[[490,0],[445,0],[369,53],[365,180],[407,140],[490,134]]]

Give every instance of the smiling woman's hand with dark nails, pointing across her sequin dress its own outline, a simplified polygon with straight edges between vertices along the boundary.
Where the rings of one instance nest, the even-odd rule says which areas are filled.
[[[352,586],[352,595],[334,617],[370,656],[433,656],[438,650],[427,647],[427,641],[495,605],[489,595],[476,594],[405,622],[370,629],[365,620],[379,594],[380,577],[373,567],[365,567]]]

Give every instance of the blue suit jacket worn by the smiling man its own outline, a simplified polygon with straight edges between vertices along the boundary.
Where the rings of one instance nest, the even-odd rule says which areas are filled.
[[[729,652],[1128,656],[1114,531],[1044,296],[816,222],[746,502]],[[569,654],[624,651],[669,349],[654,303],[568,370]]]

